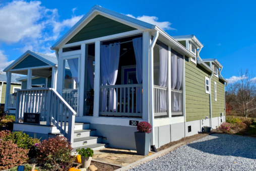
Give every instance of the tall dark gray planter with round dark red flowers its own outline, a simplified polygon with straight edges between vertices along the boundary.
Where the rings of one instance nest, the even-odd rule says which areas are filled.
[[[148,155],[152,127],[148,122],[140,122],[135,132],[136,149],[139,155]]]

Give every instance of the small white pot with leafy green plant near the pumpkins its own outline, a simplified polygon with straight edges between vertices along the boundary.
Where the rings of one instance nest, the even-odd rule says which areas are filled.
[[[88,168],[92,161],[93,150],[91,148],[78,148],[76,151],[79,155],[81,155],[81,163],[83,164],[82,167]]]

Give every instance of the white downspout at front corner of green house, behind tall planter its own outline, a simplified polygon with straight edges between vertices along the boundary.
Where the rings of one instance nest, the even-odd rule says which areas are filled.
[[[156,44],[159,32],[156,31],[154,38],[149,47],[149,75],[150,75],[150,83],[149,83],[149,90],[150,90],[150,124],[152,126],[152,136],[151,136],[151,148],[155,149],[155,127],[154,127],[154,61],[153,61],[153,48]],[[157,152],[157,151],[155,151]]]

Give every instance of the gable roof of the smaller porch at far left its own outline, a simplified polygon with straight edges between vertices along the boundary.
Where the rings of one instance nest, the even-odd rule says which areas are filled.
[[[58,64],[58,60],[56,57],[54,56],[50,56],[50,55],[46,55],[46,54],[42,54],[42,53],[38,53],[38,52],[34,52],[31,50],[27,50],[25,53],[23,53],[18,59],[16,59],[13,63],[11,63],[8,67],[6,67],[4,69],[4,71],[8,71],[10,69],[12,69],[14,66],[16,66],[16,64],[18,64],[19,62],[21,62],[23,60],[23,58],[27,55],[30,54],[36,58],[38,58],[39,60],[51,65],[51,66],[57,66]]]

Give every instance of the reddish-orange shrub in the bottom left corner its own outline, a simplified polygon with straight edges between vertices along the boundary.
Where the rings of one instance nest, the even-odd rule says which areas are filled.
[[[28,150],[19,148],[12,141],[0,141],[0,170],[9,169],[24,163],[27,159]]]

